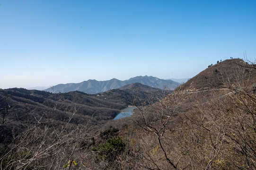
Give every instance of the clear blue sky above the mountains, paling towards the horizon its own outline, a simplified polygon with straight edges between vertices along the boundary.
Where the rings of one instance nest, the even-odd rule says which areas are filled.
[[[189,78],[256,57],[256,0],[0,0],[0,88]]]

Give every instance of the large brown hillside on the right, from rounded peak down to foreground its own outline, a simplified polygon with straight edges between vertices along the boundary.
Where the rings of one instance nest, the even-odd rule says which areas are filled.
[[[255,80],[254,65],[225,60],[181,85],[184,91],[114,122],[123,139],[131,136],[129,167],[256,170]]]

